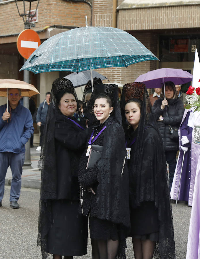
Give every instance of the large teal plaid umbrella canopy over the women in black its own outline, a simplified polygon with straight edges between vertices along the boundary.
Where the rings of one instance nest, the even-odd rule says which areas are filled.
[[[127,67],[157,60],[140,41],[112,27],[81,27],[44,41],[21,70],[35,74],[52,71],[81,72],[106,67]]]

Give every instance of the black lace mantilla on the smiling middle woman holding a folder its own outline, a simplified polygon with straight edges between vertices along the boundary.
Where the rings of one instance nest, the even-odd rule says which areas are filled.
[[[128,172],[126,164],[125,134],[121,125],[121,111],[119,107],[118,86],[113,84],[94,85],[94,91],[87,104],[86,110],[93,111],[94,102],[98,94],[106,94],[112,100],[113,112],[106,125],[109,130],[104,131],[103,151],[98,168],[97,207],[95,217],[120,224],[122,231],[129,231],[129,194]],[[94,116],[94,113],[93,113]],[[94,116],[95,117],[95,116]],[[95,121],[94,125],[99,125]],[[121,241],[117,258],[125,258],[125,239]]]

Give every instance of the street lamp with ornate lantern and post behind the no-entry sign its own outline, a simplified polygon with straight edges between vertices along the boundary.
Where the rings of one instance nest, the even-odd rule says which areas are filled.
[[[22,14],[20,14],[20,11],[19,11],[19,8],[18,8],[18,2],[19,1],[21,1],[21,2],[23,1],[24,12]],[[24,29],[30,29],[31,27],[35,27],[35,24],[33,24],[32,19],[37,12],[37,7],[35,9],[35,13],[31,14],[31,3],[34,2],[34,1],[38,1],[38,3],[37,3],[37,7],[38,7],[39,0],[15,0],[19,16],[22,17],[23,21],[24,21]],[[28,8],[27,12],[26,12],[25,2],[29,2],[29,8]],[[25,62],[26,62],[26,59],[24,58],[24,63]],[[26,83],[29,83],[29,71],[27,71],[27,70],[24,70],[24,81]],[[23,106],[26,107],[27,109],[29,109],[29,97],[23,98]],[[32,166],[31,166],[32,163],[31,163],[30,139],[28,140],[28,142],[26,142],[25,147],[26,147],[26,151],[25,151],[25,160],[24,160],[23,168],[28,169],[28,168],[32,168]]]

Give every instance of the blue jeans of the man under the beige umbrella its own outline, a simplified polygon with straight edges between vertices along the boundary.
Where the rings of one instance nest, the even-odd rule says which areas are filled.
[[[15,154],[12,152],[0,152],[0,201],[3,199],[5,175],[9,166],[12,171],[10,201],[18,201],[20,197],[24,159],[25,153]]]

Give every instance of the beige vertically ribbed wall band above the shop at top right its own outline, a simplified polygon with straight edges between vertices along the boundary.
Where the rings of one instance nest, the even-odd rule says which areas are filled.
[[[118,28],[155,30],[200,27],[200,4],[119,10]]]

